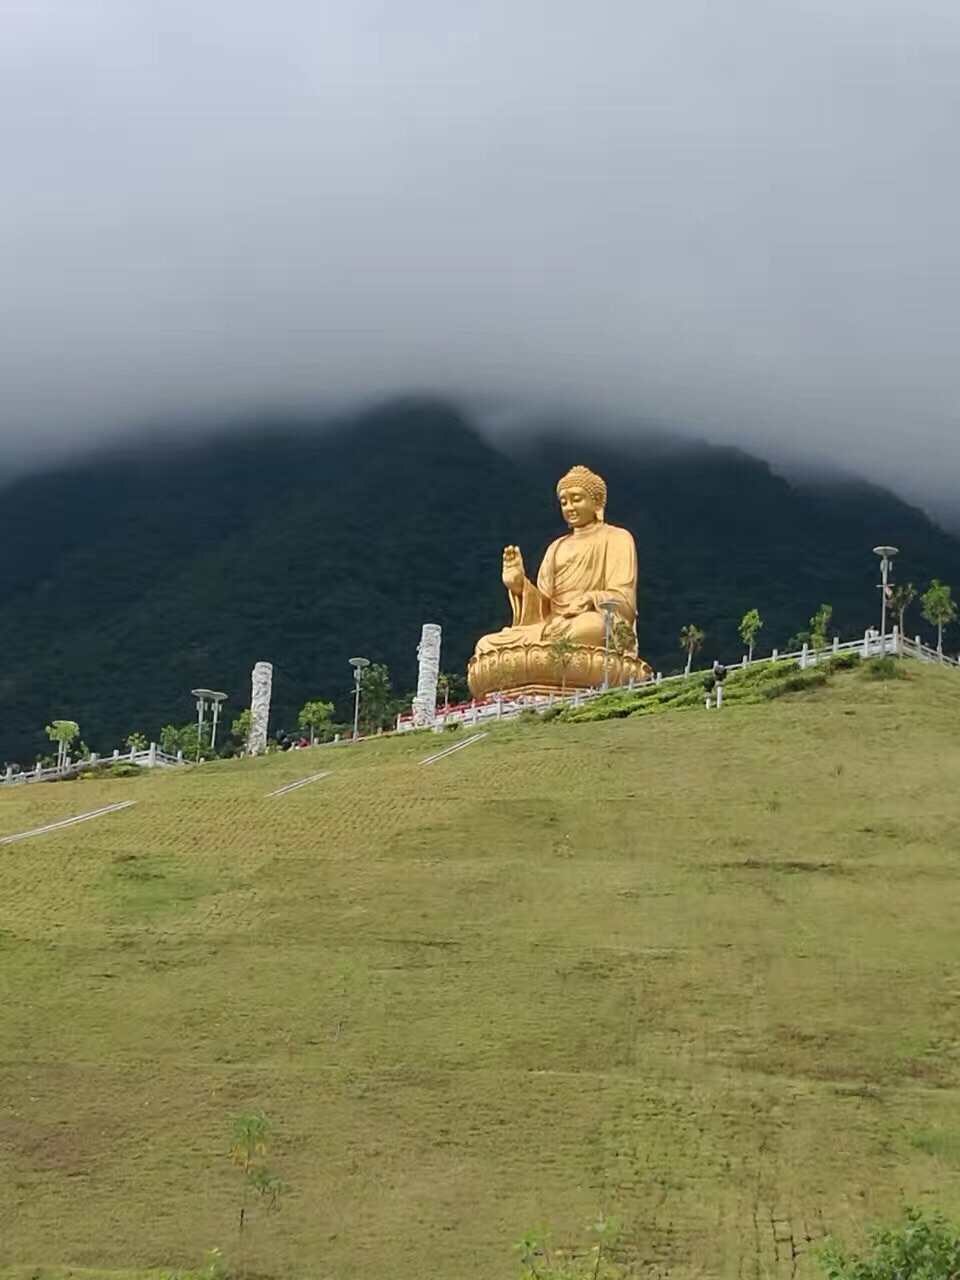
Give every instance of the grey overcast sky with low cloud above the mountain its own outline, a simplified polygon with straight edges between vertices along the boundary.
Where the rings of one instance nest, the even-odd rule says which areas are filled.
[[[434,389],[952,499],[957,0],[3,8],[0,461]]]

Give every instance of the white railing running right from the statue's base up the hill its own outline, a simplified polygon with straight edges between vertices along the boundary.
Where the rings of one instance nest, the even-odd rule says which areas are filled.
[[[946,654],[938,653],[936,649],[931,649],[920,641],[916,636],[914,640],[908,640],[901,636],[897,627],[893,627],[891,632],[882,636],[879,631],[867,631],[861,637],[856,640],[844,640],[838,637],[832,640],[823,649],[812,649],[809,645],[804,645],[803,649],[795,649],[790,653],[780,653],[774,649],[773,653],[764,655],[763,658],[748,659],[746,655],[741,662],[732,663],[727,666],[727,671],[742,671],[746,667],[763,667],[772,662],[795,662],[800,668],[815,667],[819,662],[827,662],[831,658],[838,657],[844,653],[859,653],[861,658],[879,658],[884,654],[899,655],[902,658],[916,658],[920,662],[938,662],[945,666],[957,668],[960,667],[960,658],[948,658]],[[436,712],[436,719],[434,723],[435,730],[443,730],[445,724],[461,723],[461,724],[488,724],[490,722],[512,719],[526,710],[547,710],[550,707],[582,707],[586,703],[593,701],[595,698],[600,698],[604,692],[622,692],[625,690],[634,689],[648,689],[652,685],[668,685],[677,680],[687,680],[690,676],[705,677],[709,675],[710,668],[680,672],[675,676],[663,676],[657,672],[649,680],[637,682],[630,681],[627,685],[611,686],[611,689],[575,689],[566,696],[561,694],[549,695],[534,695],[525,694],[518,698],[511,698],[504,695],[502,698],[488,698],[480,703],[462,704],[460,707],[439,708]],[[397,718],[397,732],[404,733],[416,728],[413,723],[413,717],[399,716]]]

